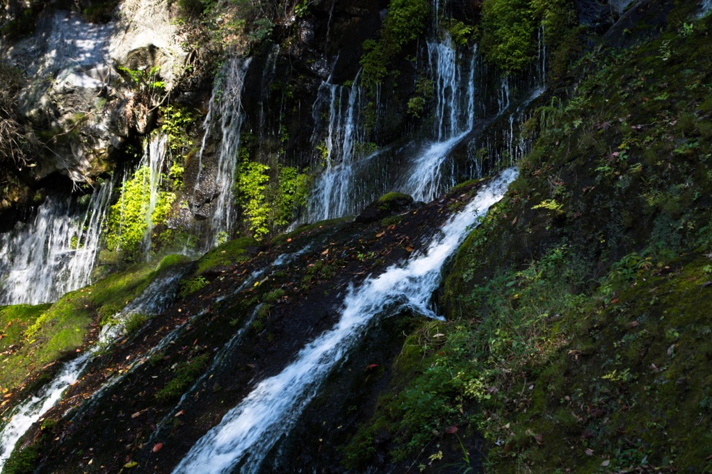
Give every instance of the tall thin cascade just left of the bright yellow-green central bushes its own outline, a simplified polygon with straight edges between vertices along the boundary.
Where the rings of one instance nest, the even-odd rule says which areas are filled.
[[[220,117],[220,148],[212,202],[209,247],[230,235],[234,219],[233,189],[238,167],[240,132],[243,120],[242,89],[251,58],[231,58],[215,86],[214,102]],[[206,132],[207,133],[207,132]]]

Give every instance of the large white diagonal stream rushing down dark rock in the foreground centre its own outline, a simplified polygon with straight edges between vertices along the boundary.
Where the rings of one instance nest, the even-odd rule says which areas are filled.
[[[374,317],[404,305],[434,317],[429,301],[439,284],[440,270],[488,208],[503,196],[515,177],[508,169],[481,189],[473,200],[443,226],[422,253],[382,275],[350,288],[332,330],[307,344],[276,376],[261,381],[222,421],[193,446],[174,473],[257,472],[270,449],[294,426],[321,382],[355,344]]]

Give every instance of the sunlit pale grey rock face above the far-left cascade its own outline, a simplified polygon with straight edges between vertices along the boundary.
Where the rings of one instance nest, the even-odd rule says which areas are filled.
[[[32,36],[0,43],[3,58],[31,78],[20,111],[50,149],[35,180],[60,172],[92,181],[127,139],[148,131],[153,107],[182,73],[186,53],[165,2],[127,0],[115,16],[90,23],[46,9]]]

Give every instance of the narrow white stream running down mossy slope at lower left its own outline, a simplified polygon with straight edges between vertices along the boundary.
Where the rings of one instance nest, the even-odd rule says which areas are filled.
[[[64,391],[79,379],[95,355],[117,339],[131,315],[155,315],[168,307],[174,300],[179,280],[183,275],[183,269],[174,268],[156,278],[141,295],[112,317],[112,323],[102,328],[99,340],[93,347],[70,362],[66,362],[52,381],[11,412],[10,420],[0,431],[0,470],[19,439],[33,423],[57,404]]]

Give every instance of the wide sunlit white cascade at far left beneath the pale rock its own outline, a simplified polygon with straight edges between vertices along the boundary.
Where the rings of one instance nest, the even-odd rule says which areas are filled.
[[[48,196],[34,221],[0,235],[0,305],[52,302],[90,283],[111,192],[105,181],[83,212],[76,199]]]

